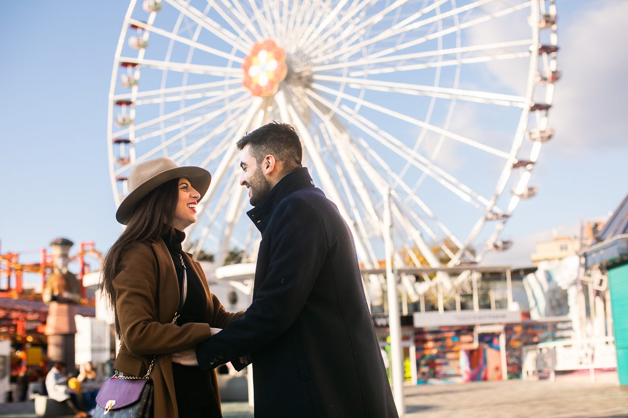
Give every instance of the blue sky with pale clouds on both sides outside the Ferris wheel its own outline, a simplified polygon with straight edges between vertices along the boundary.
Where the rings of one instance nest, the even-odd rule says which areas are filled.
[[[519,205],[502,234],[515,247],[489,261],[526,264],[531,237],[605,217],[628,192],[628,126],[620,113],[628,97],[628,60],[620,52],[627,4],[558,2],[564,76],[551,113],[557,134],[533,173],[538,196]],[[3,4],[0,252],[38,250],[57,237],[95,241],[104,252],[121,232],[106,130],[126,8],[126,1]]]

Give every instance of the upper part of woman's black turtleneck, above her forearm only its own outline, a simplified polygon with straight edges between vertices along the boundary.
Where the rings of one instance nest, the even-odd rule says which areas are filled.
[[[175,264],[176,278],[179,281],[179,294],[183,294],[183,266],[181,265],[181,259],[179,255],[183,251],[181,249],[181,242],[185,239],[185,232],[181,232],[178,229],[174,230],[175,233],[170,237],[170,234],[166,233],[161,238],[166,243],[172,262]],[[207,309],[207,299],[205,298],[205,290],[202,284],[194,274],[191,266],[187,266],[188,274],[188,295],[185,300],[185,305],[179,313],[179,319],[176,321],[178,325],[187,324],[190,322],[202,322],[205,316],[205,309]]]

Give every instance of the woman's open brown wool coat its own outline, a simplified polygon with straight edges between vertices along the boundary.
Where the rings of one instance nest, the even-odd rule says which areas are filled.
[[[114,368],[126,375],[143,376],[154,355],[150,378],[154,385],[154,418],[179,418],[170,354],[193,348],[210,337],[210,326],[225,328],[243,313],[228,313],[210,292],[200,264],[184,253],[195,277],[202,277],[207,296],[205,323],[171,324],[179,304],[175,265],[161,240],[137,242],[122,255],[113,281],[122,347]],[[190,277],[191,278],[191,277]],[[212,383],[220,400],[215,372]],[[181,417],[185,418],[185,417]]]

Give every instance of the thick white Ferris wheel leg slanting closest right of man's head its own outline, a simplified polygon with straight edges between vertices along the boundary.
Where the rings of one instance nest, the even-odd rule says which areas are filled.
[[[301,137],[301,140],[303,141],[303,144],[305,145],[305,149],[309,151],[308,154],[310,154],[310,158],[312,159],[314,168],[317,171],[318,176],[320,177],[321,181],[323,182],[323,187],[325,188],[325,191],[329,193],[331,200],[338,206],[340,215],[342,215],[342,217],[345,218],[345,222],[347,222],[347,226],[351,230],[351,233],[353,233],[354,236],[357,236],[357,231],[355,230],[354,221],[349,216],[349,212],[347,211],[347,208],[345,208],[344,201],[340,197],[340,193],[338,193],[336,186],[333,184],[332,178],[329,175],[329,172],[327,171],[327,167],[325,166],[325,163],[323,163],[323,160],[320,158],[320,155],[318,155],[316,151],[314,141],[310,137],[310,132],[301,121],[301,118],[296,113],[296,110],[293,109],[293,107],[288,106],[283,90],[279,90],[274,97],[279,107],[279,112],[281,113],[281,117],[283,119],[286,119],[296,124],[296,129],[300,133],[300,137]],[[368,265],[370,267],[371,262],[369,261],[369,256],[366,250],[364,249],[364,246],[362,245],[362,243],[356,240],[355,248],[357,250],[358,257],[360,258],[360,260],[362,260],[364,265]]]

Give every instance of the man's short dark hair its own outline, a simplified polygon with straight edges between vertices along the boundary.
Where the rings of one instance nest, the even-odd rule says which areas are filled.
[[[237,149],[251,146],[251,155],[257,164],[261,164],[268,154],[283,163],[284,169],[301,167],[303,149],[295,128],[276,121],[258,127],[237,141]]]

